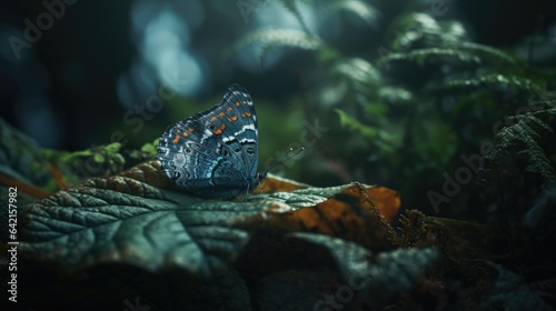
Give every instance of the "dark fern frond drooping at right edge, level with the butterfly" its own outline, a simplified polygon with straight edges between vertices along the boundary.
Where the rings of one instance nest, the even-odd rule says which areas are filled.
[[[513,124],[503,128],[496,133],[495,147],[487,154],[487,158],[499,162],[504,156],[508,154],[509,147],[520,141],[524,143],[525,149],[518,151],[517,154],[527,156],[525,170],[539,174],[543,178],[543,184],[546,187],[556,182],[556,170],[537,140],[540,138],[542,132],[554,134],[554,130],[542,117],[556,117],[556,109],[550,108],[508,118],[507,121],[513,122]]]

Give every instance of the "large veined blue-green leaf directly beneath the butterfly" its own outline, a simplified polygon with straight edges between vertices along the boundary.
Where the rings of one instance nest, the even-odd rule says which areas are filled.
[[[159,162],[151,161],[119,175],[89,179],[32,205],[24,215],[20,254],[62,273],[127,263],[209,280],[238,258],[268,213],[314,207],[348,187],[208,200],[176,189]]]

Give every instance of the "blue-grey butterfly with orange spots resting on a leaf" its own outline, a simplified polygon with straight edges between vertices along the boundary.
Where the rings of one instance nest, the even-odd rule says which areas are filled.
[[[158,144],[163,173],[187,192],[230,200],[266,178],[257,173],[259,139],[252,99],[239,84],[220,103],[169,126]]]

